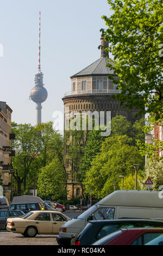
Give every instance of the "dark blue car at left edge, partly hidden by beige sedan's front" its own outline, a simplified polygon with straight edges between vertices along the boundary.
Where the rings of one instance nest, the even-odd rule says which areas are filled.
[[[14,217],[20,217],[24,215],[23,211],[17,211],[17,210],[0,210],[0,230],[5,230],[5,227],[7,225],[7,218],[14,218]]]

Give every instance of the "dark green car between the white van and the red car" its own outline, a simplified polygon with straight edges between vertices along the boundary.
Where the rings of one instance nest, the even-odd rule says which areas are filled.
[[[163,221],[148,219],[119,219],[89,221],[79,235],[73,237],[71,245],[91,245],[102,237],[120,230],[121,228],[160,227],[163,228]]]

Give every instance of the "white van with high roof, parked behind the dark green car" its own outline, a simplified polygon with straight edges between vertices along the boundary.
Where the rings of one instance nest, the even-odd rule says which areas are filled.
[[[70,245],[71,239],[82,231],[90,220],[112,220],[118,218],[161,218],[163,219],[163,199],[159,191],[117,190],[112,192],[77,219],[60,227],[57,241],[59,245]]]

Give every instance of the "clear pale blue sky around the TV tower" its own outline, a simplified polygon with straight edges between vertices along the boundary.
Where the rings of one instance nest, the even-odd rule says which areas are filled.
[[[35,125],[35,103],[29,100],[37,70],[41,11],[41,70],[48,97],[42,122],[64,110],[61,98],[71,90],[70,76],[100,57],[102,15],[107,0],[0,0],[0,101],[12,108],[12,121]]]

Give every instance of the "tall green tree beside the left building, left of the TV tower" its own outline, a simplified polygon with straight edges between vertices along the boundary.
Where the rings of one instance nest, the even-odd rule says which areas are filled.
[[[16,139],[12,141],[12,149],[16,151],[15,157],[12,157],[12,169],[16,169],[13,176],[17,193],[21,194],[22,184],[23,190],[26,190],[27,175],[39,153],[40,144],[37,142],[38,133],[30,124],[12,123],[12,133],[16,134]]]

